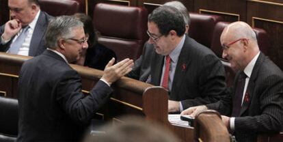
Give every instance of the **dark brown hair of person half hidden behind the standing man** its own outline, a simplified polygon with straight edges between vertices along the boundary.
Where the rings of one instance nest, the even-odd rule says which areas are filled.
[[[92,23],[92,18],[90,16],[87,16],[86,14],[77,13],[74,15],[77,19],[81,20],[83,23],[83,30],[85,33],[89,34],[90,37],[87,40],[87,44],[90,48],[94,46],[97,43],[98,40],[98,31],[94,28],[94,25]]]

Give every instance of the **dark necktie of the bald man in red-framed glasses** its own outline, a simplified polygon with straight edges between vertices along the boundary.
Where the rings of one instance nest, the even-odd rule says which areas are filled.
[[[246,77],[247,75],[245,75],[245,72],[241,72],[239,74],[238,84],[236,87],[236,92],[235,92],[235,96],[233,100],[234,103],[233,103],[233,109],[232,109],[232,117],[239,117],[240,115]]]

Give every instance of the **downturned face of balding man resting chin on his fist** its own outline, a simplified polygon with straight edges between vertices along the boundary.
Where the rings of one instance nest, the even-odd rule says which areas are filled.
[[[23,26],[29,25],[39,10],[38,5],[29,3],[28,0],[8,0],[8,7],[11,18],[17,19]]]

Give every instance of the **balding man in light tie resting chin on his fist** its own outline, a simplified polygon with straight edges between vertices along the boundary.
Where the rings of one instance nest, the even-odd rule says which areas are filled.
[[[8,0],[8,6],[12,20],[0,27],[0,51],[17,55],[40,55],[46,49],[44,33],[52,17],[40,11],[38,0]],[[22,36],[23,40],[19,42]]]

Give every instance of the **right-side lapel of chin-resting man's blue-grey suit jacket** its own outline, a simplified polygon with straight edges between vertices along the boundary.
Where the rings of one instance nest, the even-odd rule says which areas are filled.
[[[29,46],[29,56],[35,56],[40,48],[40,42],[42,38],[44,38],[44,33],[46,31],[46,17],[43,12],[40,12],[40,16],[38,16],[38,22],[36,23],[36,27],[33,30],[33,35],[31,37],[31,43]]]

